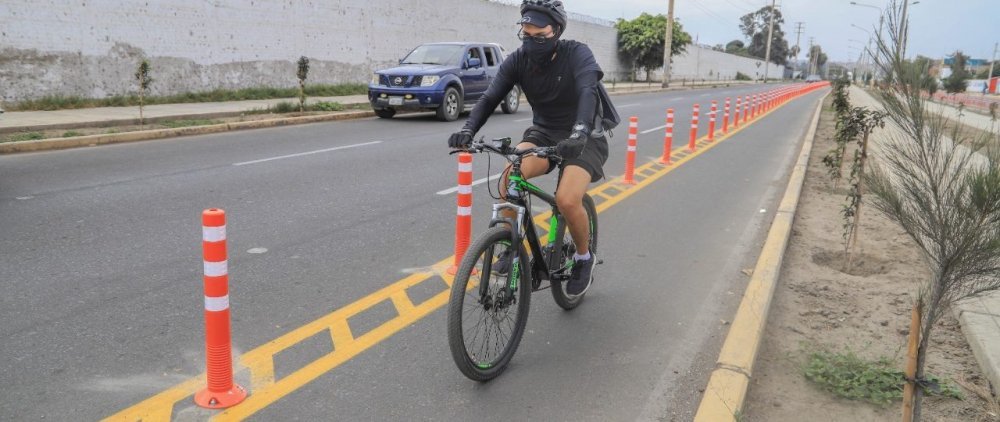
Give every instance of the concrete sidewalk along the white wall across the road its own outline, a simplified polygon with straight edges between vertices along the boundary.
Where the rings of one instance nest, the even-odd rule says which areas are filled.
[[[692,89],[724,85],[746,84],[748,81],[675,81],[668,90]],[[640,93],[659,91],[659,82],[617,82],[606,83],[612,93]],[[523,97],[522,97],[523,99]],[[368,104],[367,95],[339,97],[309,97],[309,104],[329,101],[342,105]],[[184,103],[149,105],[143,110],[148,121],[163,119],[214,119],[238,116],[253,109],[266,109],[280,102],[298,103],[298,98],[276,98],[270,100],[228,101],[214,103]],[[104,127],[119,124],[133,124],[139,118],[139,107],[100,107],[54,111],[8,111],[0,114],[0,134],[27,132],[45,129],[75,129],[81,127]]]

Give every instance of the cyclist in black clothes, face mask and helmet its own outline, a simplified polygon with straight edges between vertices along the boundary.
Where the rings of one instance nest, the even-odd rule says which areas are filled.
[[[583,208],[587,186],[604,177],[608,141],[601,124],[599,103],[604,92],[604,76],[586,44],[561,39],[567,16],[558,0],[524,0],[521,4],[518,38],[522,45],[500,65],[497,77],[476,103],[464,128],[452,134],[448,146],[467,147],[490,114],[517,84],[532,106],[532,126],[524,132],[519,149],[555,146],[563,157],[560,165],[556,205],[566,218],[576,246],[566,293],[580,295],[593,282],[597,257],[589,250],[590,227]],[[603,98],[607,98],[606,94]],[[610,102],[607,103],[610,106]],[[521,162],[525,178],[547,174],[554,169],[548,159],[526,157]],[[506,198],[507,175],[503,173],[500,195]],[[506,217],[513,218],[513,215]],[[496,267],[505,272],[510,254],[501,255]]]

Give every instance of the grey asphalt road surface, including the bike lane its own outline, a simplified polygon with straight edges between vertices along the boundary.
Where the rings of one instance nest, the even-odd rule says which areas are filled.
[[[614,101],[640,131],[675,108],[678,147],[693,103],[704,134],[709,101],[761,91]],[[572,312],[536,294],[500,378],[457,371],[438,309],[252,419],[690,419],[819,95],[603,212],[597,284]],[[516,138],[529,118],[498,113],[481,134]],[[205,208],[228,214],[237,354],[447,257],[455,198],[440,193],[456,165],[445,142],[460,126],[418,114],[0,156],[0,420],[100,419],[204,371]],[[626,133],[611,142],[609,177],[624,168]],[[662,129],[640,135],[638,161],[662,143]],[[500,170],[485,158],[475,179]],[[487,184],[474,197],[479,232]],[[355,335],[395,315],[382,305],[351,319]],[[275,376],[330,349],[307,339],[275,357]],[[189,398],[173,412],[211,414]]]

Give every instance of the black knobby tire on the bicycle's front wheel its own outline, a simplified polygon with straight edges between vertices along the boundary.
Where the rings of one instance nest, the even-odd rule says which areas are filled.
[[[512,280],[517,280],[517,289],[514,292],[516,299],[514,303],[505,306],[507,313],[509,313],[509,309],[512,307],[516,311],[514,321],[507,325],[511,329],[511,332],[506,337],[506,341],[502,345],[502,350],[497,356],[491,359],[484,359],[479,356],[485,354],[485,352],[489,352],[489,350],[484,351],[480,348],[479,352],[482,353],[474,353],[469,350],[469,345],[466,342],[466,330],[469,327],[465,326],[463,317],[470,309],[473,312],[477,309],[482,311],[480,316],[484,317],[484,319],[480,323],[488,321],[487,318],[491,319],[497,327],[497,333],[495,333],[496,339],[498,342],[501,340],[503,327],[500,326],[500,321],[497,321],[497,316],[501,312],[495,307],[490,309],[483,303],[476,303],[478,302],[478,289],[475,286],[470,288],[469,281],[473,276],[473,270],[477,267],[480,274],[479,277],[485,272],[482,264],[479,264],[480,257],[483,257],[487,253],[492,257],[496,245],[505,245],[509,248],[510,239],[510,229],[501,226],[490,228],[480,235],[476,241],[469,245],[469,249],[465,253],[465,257],[462,258],[458,271],[455,273],[455,279],[452,282],[451,296],[448,300],[448,346],[451,349],[451,356],[455,360],[455,365],[458,366],[459,371],[474,381],[489,381],[503,373],[517,351],[517,347],[521,342],[521,336],[524,334],[525,324],[528,322],[528,309],[531,304],[531,269],[528,267],[528,257],[524,250],[524,245],[521,244],[518,245],[518,259],[515,261],[520,267],[512,267],[507,275],[502,278],[503,283],[510,283]],[[497,285],[495,290],[488,288],[489,295],[494,295],[501,290],[500,286],[503,286],[503,284],[493,283],[494,274],[488,275],[490,284]],[[473,294],[470,295],[470,292],[473,292]],[[468,303],[470,299],[472,303]],[[493,314],[491,315],[490,312]],[[479,335],[479,325],[472,328],[475,329],[475,335],[472,338],[472,342],[474,343]],[[489,329],[488,326],[486,328]],[[487,337],[493,335],[492,331],[487,332],[484,336],[484,341],[488,340]],[[494,344],[494,346],[498,345],[499,343]]]

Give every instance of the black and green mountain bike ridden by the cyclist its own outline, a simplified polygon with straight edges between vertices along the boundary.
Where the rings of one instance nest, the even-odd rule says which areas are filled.
[[[493,205],[489,229],[469,245],[462,257],[448,302],[452,358],[462,374],[476,381],[496,378],[510,363],[524,334],[532,292],[551,290],[556,304],[565,310],[579,306],[586,295],[586,291],[579,295],[566,293],[575,246],[566,233],[566,221],[556,207],[555,195],[529,183],[521,174],[521,160],[525,157],[547,158],[557,165],[562,158],[554,147],[518,150],[510,143],[510,138],[488,143],[480,139],[467,151],[500,155],[511,163],[507,198]],[[531,216],[532,198],[552,207],[544,244]],[[583,206],[590,222],[590,250],[596,253],[597,208],[586,194]],[[504,256],[509,265],[496,268]],[[543,281],[548,284],[543,286]]]

